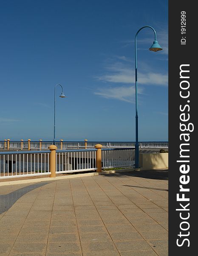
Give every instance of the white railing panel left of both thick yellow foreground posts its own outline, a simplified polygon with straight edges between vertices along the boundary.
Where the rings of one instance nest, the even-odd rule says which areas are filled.
[[[0,152],[0,179],[49,175],[50,151]]]

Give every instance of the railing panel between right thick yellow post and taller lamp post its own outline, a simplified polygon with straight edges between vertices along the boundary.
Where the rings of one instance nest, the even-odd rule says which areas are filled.
[[[132,148],[102,148],[102,169],[134,166]]]

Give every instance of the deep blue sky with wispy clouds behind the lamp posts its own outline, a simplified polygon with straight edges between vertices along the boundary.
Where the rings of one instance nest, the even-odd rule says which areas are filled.
[[[153,4],[152,4],[153,2]],[[0,140],[168,140],[168,1],[0,2]]]

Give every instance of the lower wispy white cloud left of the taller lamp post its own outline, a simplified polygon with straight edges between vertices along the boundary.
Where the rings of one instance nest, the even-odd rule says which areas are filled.
[[[138,88],[138,93],[142,93],[143,89]],[[134,86],[120,86],[120,87],[109,87],[99,88],[94,94],[100,95],[106,99],[119,99],[125,102],[134,102],[134,95],[136,93]]]

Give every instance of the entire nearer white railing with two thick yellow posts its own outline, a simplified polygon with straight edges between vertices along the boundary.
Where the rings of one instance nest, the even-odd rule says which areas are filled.
[[[102,169],[134,165],[133,148],[102,148],[58,150],[49,146],[41,151],[0,152],[0,179],[31,177],[74,172],[102,172]]]

